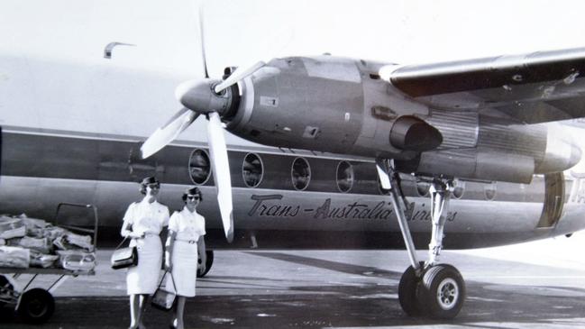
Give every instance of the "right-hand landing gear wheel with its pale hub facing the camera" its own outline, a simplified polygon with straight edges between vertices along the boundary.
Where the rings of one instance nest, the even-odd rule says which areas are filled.
[[[438,264],[425,270],[416,297],[425,315],[452,319],[462,309],[465,282],[459,270]]]

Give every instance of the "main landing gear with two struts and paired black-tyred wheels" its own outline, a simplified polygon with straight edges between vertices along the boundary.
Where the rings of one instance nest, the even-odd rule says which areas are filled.
[[[407,246],[411,266],[402,274],[398,300],[407,315],[452,319],[462,309],[465,282],[452,265],[439,264],[443,249],[443,228],[446,222],[452,181],[434,178],[430,181],[433,231],[429,243],[429,259],[416,260],[415,243],[408,228],[407,202],[398,184],[398,172],[387,160],[378,160],[377,169],[382,187],[390,190],[392,206],[398,217],[400,232]]]

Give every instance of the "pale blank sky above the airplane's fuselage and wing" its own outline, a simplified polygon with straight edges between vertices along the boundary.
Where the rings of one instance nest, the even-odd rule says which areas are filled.
[[[124,41],[138,47],[116,49],[121,65],[200,74],[198,4],[3,0],[0,50],[99,61],[106,43]],[[585,46],[581,1],[209,0],[204,8],[214,76],[270,54],[406,64]]]

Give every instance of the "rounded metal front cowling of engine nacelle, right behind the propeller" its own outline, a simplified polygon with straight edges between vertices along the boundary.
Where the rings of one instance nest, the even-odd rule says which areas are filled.
[[[273,59],[241,84],[241,101],[227,129],[251,142],[283,148],[413,159],[441,143],[415,115],[425,106],[395,106],[385,63],[322,56]],[[393,133],[391,133],[393,132]]]

